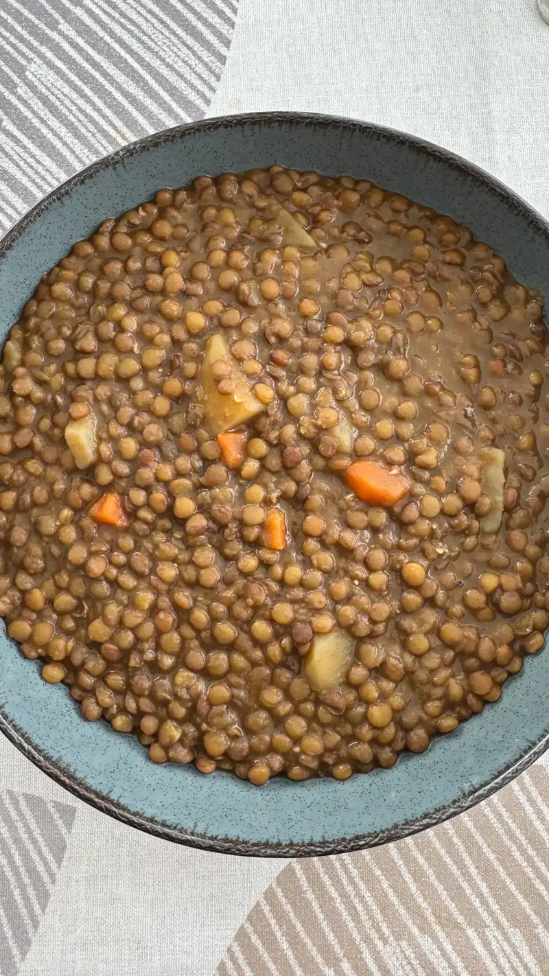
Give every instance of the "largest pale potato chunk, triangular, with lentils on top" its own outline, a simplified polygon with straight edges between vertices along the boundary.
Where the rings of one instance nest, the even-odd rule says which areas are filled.
[[[230,368],[227,377],[233,387],[230,393],[219,393],[212,376],[212,367],[220,360],[226,362]],[[222,336],[212,336],[208,340],[200,378],[204,389],[206,415],[216,433],[246,424],[255,417],[255,414],[265,409],[265,405],[255,398],[244,373],[236,359],[231,356]]]

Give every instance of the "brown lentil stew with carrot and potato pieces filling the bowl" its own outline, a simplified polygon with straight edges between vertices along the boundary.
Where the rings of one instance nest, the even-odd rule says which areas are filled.
[[[274,166],[105,221],[4,346],[8,633],[156,762],[423,752],[549,624],[541,319],[367,181]]]

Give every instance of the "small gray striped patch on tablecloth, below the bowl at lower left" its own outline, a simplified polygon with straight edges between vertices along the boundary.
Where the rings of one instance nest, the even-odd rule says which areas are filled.
[[[0,976],[16,976],[50,900],[76,807],[0,793]]]

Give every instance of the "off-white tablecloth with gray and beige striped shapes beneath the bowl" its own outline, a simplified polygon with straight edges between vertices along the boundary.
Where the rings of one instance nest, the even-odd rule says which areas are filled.
[[[111,149],[208,115],[320,111],[485,167],[549,217],[535,0],[4,0],[0,231]],[[545,759],[448,824],[283,862],[87,807],[0,741],[0,976],[543,976]]]

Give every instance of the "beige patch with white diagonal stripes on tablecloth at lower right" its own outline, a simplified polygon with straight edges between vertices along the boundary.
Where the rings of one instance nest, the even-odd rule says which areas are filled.
[[[542,976],[549,920],[549,770],[372,851],[294,861],[216,976]]]

